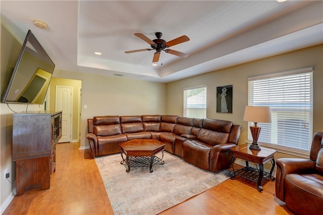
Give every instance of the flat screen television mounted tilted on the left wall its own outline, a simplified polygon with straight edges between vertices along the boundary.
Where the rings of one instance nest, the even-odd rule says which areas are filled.
[[[1,102],[42,104],[54,68],[55,64],[28,30]]]

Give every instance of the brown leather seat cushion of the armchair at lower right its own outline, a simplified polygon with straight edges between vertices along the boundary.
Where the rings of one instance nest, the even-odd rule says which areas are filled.
[[[287,174],[285,202],[299,214],[321,214],[323,205],[323,176],[318,174]]]

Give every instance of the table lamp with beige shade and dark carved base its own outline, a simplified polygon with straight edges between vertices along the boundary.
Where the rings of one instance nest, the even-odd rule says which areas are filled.
[[[271,123],[271,110],[267,106],[246,106],[243,116],[243,121],[253,122],[254,125],[250,126],[250,131],[252,135],[252,144],[250,149],[260,150],[258,144],[258,137],[261,128],[257,126],[257,123]]]

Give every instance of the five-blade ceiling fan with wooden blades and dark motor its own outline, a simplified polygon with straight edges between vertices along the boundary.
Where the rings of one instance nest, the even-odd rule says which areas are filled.
[[[156,50],[156,52],[154,53],[153,58],[152,58],[153,63],[159,61],[159,56],[160,56],[160,51],[161,50],[164,50],[166,53],[170,53],[172,55],[176,55],[176,56],[179,56],[181,58],[187,58],[188,57],[187,53],[183,53],[183,52],[176,51],[176,50],[168,48],[168,47],[171,47],[173,45],[177,45],[179,43],[189,41],[190,38],[188,38],[188,36],[186,36],[186,35],[180,36],[180,37],[178,37],[176,39],[173,39],[171,41],[168,41],[168,42],[166,42],[164,39],[160,39],[160,37],[163,35],[160,32],[155,33],[157,39],[153,39],[153,40],[149,39],[148,37],[146,37],[142,33],[135,33],[135,35],[137,37],[139,37],[140,39],[142,39],[142,40],[146,41],[147,43],[149,43],[151,48],[144,48],[144,49],[125,51],[125,53]]]

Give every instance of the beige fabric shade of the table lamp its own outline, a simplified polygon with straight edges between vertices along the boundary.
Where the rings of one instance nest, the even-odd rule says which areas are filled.
[[[243,121],[255,123],[271,123],[271,110],[267,106],[246,106]]]

